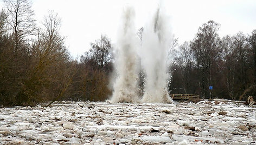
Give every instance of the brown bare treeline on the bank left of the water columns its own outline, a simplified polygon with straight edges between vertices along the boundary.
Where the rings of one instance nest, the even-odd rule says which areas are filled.
[[[0,12],[0,106],[106,100],[111,93],[107,87],[112,70],[109,38],[101,36],[78,62],[67,51],[57,14],[49,12],[39,28],[30,1],[4,3]]]

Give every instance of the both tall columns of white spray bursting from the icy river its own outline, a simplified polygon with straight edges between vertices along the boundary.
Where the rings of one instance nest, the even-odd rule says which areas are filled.
[[[172,103],[167,89],[167,57],[171,40],[170,23],[157,9],[153,19],[144,27],[142,48],[137,53],[139,41],[136,37],[132,7],[124,9],[122,25],[116,51],[116,82],[113,85],[112,102]],[[144,96],[138,98],[138,56],[146,75]]]

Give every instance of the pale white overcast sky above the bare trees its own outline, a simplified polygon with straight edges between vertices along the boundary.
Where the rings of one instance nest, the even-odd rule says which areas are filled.
[[[125,5],[133,5],[136,11],[136,27],[143,27],[158,1],[121,0],[32,0],[35,18],[42,22],[49,10],[62,19],[61,34],[75,58],[90,48],[90,43],[106,34],[116,42],[120,14]],[[256,29],[256,1],[254,0],[193,0],[164,2],[171,17],[172,32],[179,43],[190,41],[197,29],[209,20],[221,24],[220,36],[234,35],[239,31],[249,34]],[[3,6],[1,0],[0,8]]]

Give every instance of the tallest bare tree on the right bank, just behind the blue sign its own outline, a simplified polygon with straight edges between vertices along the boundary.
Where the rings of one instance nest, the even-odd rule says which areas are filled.
[[[190,43],[193,50],[197,69],[201,72],[200,88],[203,97],[210,97],[207,89],[212,80],[212,65],[220,54],[220,38],[217,34],[219,24],[209,21],[199,28],[196,37]]]

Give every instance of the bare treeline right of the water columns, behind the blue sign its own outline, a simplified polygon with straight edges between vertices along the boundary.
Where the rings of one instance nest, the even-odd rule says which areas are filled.
[[[171,65],[171,93],[231,100],[256,95],[256,30],[220,38],[219,28],[209,21],[192,41],[178,46]]]

